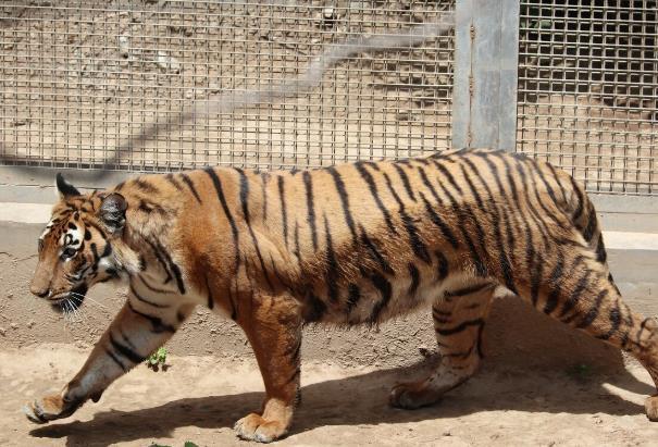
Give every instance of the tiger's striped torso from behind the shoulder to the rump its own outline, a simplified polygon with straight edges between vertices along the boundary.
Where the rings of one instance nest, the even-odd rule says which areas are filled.
[[[190,174],[203,203],[188,201],[189,212],[198,215],[195,208],[204,206],[200,226],[231,232],[233,245],[214,232],[199,241],[195,225],[189,239],[198,247],[187,259],[223,249],[218,273],[249,277],[246,287],[233,277],[234,288],[291,290],[308,322],[373,324],[482,283],[527,291],[511,265],[532,262],[529,246],[545,241],[535,240],[535,231],[583,243],[564,231],[582,191],[566,173],[523,156],[481,150],[303,172],[216,173],[219,185],[209,170]],[[222,196],[232,206],[224,209]],[[218,280],[219,288],[231,288],[229,280]]]

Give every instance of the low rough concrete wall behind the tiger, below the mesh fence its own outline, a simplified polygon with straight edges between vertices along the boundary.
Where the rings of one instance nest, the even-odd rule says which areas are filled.
[[[30,218],[25,207],[18,208],[23,211],[17,213],[15,209],[15,204],[0,203],[0,346],[22,347],[48,342],[90,347],[121,307],[124,291],[107,285],[97,286],[90,291],[90,299],[86,300],[76,321],[66,321],[53,313],[44,300],[28,291],[36,265],[36,241],[42,224],[8,221],[7,218],[27,222],[40,220],[38,213]],[[16,218],[16,214],[20,215]],[[637,218],[634,224],[632,219],[619,215],[604,216],[604,221],[614,222],[617,219],[645,229],[650,222],[658,225],[654,216],[645,218]],[[646,240],[650,243],[653,236],[656,235],[646,236]],[[631,243],[629,247],[632,247]],[[613,248],[609,250],[609,259],[614,277],[632,307],[648,314],[658,313],[658,251]],[[201,308],[175,335],[170,347],[174,353],[250,355],[239,327]],[[371,331],[311,326],[306,330],[302,353],[306,359],[393,367],[419,360],[419,349],[435,349],[429,312],[406,316]],[[575,363],[597,367],[621,363],[621,356],[614,349],[563,327],[511,298],[494,305],[486,331],[485,353],[489,359],[519,365],[568,368]]]

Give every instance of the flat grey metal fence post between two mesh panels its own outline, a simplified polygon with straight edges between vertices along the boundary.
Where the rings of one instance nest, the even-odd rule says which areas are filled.
[[[519,0],[457,0],[452,142],[513,150]]]

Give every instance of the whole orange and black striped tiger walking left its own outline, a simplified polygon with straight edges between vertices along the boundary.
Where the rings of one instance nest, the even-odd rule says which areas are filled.
[[[290,429],[305,323],[377,324],[432,307],[442,360],[390,403],[436,402],[476,370],[492,298],[539,311],[634,355],[658,381],[658,325],[612,282],[596,213],[564,172],[521,154],[459,150],[310,171],[204,169],[145,175],[88,195],[58,176],[30,290],[77,307],[95,283],[128,299],[34,422],[72,414],[166,342],[196,306],[245,331],[263,375],[246,439]],[[658,397],[646,400],[658,419]]]

